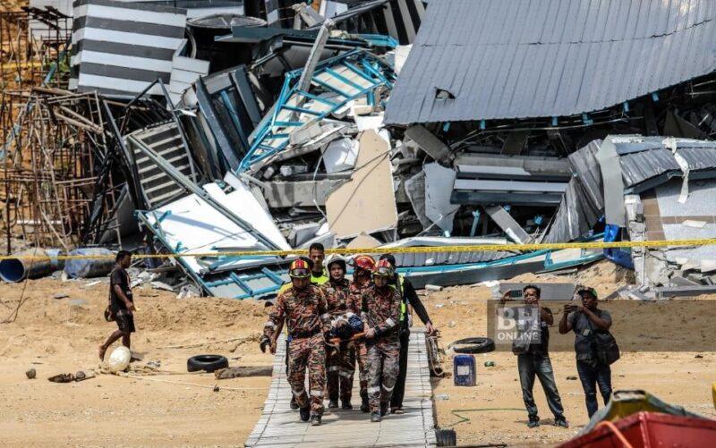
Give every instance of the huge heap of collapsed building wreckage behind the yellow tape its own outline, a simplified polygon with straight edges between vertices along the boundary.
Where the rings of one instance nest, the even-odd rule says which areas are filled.
[[[516,54],[503,60],[493,47],[515,46],[533,64],[551,56],[507,32],[471,34],[475,24],[458,20],[475,17],[485,29],[514,20],[498,0],[251,0],[197,16],[202,3],[75,2],[72,69],[55,75],[66,85],[31,90],[27,107],[100,156],[80,162],[95,179],[81,192],[81,225],[70,229],[60,214],[39,235],[46,247],[70,229],[76,246],[165,255],[147,267],[174,266],[188,281],[147,276],[155,287],[243,299],[275,294],[292,258],[234,252],[716,236],[710,48],[688,51],[711,64],[639,89],[618,77],[595,85],[604,79],[596,66],[566,71],[564,91],[547,86],[533,101],[535,86],[558,74],[542,64],[510,74]],[[535,30],[561,20],[551,3],[535,6],[544,9]],[[686,15],[684,30],[647,23],[652,57],[671,51],[669,33],[716,37],[712,21]],[[109,16],[116,30],[102,29]],[[595,29],[628,52],[618,38],[626,24],[608,25]],[[490,74],[459,63],[468,49],[487,55]],[[593,89],[578,91],[582,80]],[[15,158],[27,150],[6,148]],[[416,287],[439,288],[606,257],[635,270],[639,294],[668,297],[713,287],[712,248],[423,249],[396,258]]]

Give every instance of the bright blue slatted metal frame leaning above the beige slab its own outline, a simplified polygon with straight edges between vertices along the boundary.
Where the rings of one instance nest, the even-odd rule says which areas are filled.
[[[371,86],[366,89],[362,89],[360,85],[356,84],[351,80],[346,79],[341,74],[335,72],[333,70],[333,67],[339,64],[344,65],[346,68],[348,68],[348,70],[356,73],[362,79],[370,81]],[[311,94],[311,92],[298,89],[298,80],[300,79],[302,73],[303,69],[294,70],[293,72],[286,73],[286,80],[284,81],[284,85],[281,88],[281,93],[278,96],[276,105],[274,106],[273,114],[271,114],[270,120],[260,123],[257,127],[256,138],[253,139],[253,141],[251,142],[251,148],[249,148],[246,155],[243,157],[241,164],[236,170],[237,172],[241,173],[243,171],[246,171],[251,167],[251,165],[260,162],[268,156],[273,156],[280,150],[286,148],[286,146],[288,145],[288,134],[275,134],[271,131],[272,129],[277,127],[300,127],[305,124],[304,122],[277,121],[277,116],[281,112],[287,110],[298,113],[307,113],[312,115],[313,120],[321,120],[328,116],[328,114],[332,114],[333,112],[335,112],[338,108],[345,106],[348,101],[356,97],[362,97],[363,95],[365,95],[368,97],[369,101],[372,101],[373,90],[375,90],[379,86],[386,86],[388,87],[388,89],[392,89],[393,83],[396,80],[395,73],[386,63],[383,63],[376,56],[371,55],[370,53],[367,53],[362,49],[356,49],[346,53],[345,55],[338,55],[336,57],[332,57],[326,61],[323,61],[316,67],[315,72],[313,72],[313,76],[311,78],[313,83],[320,85],[323,89],[326,89],[328,91],[336,92],[342,97],[345,97],[344,100],[341,100],[339,102],[330,101],[326,98],[318,97],[314,94]],[[353,89],[357,89],[358,93],[346,93],[340,89],[337,89],[336,87],[328,85],[326,82],[317,78],[317,76],[325,73],[328,73],[330,76],[336,78],[337,80],[348,84]],[[323,103],[330,108],[328,109],[328,111],[325,112],[317,112],[310,111],[303,107],[287,105],[288,101],[294,97],[305,97]],[[279,143],[277,146],[265,145],[264,142],[269,139],[286,139],[286,141]]]

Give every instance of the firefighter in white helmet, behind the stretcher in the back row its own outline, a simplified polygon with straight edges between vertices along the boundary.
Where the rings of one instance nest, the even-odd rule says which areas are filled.
[[[339,255],[330,256],[326,260],[328,282],[321,285],[328,302],[328,313],[334,319],[332,326],[348,325],[345,314],[348,311],[348,285],[345,278],[345,259]],[[340,342],[337,346],[328,346],[326,358],[328,409],[341,408],[352,410],[351,393],[353,392],[353,376],[355,372],[354,342]]]

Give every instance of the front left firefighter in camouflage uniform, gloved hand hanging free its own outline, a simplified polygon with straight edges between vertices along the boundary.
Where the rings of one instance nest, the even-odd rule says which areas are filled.
[[[288,348],[288,383],[299,406],[301,419],[320,425],[323,414],[323,388],[326,384],[326,337],[330,331],[330,317],[326,296],[311,284],[311,267],[303,259],[296,259],[288,269],[291,288],[278,294],[273,311],[263,329],[262,346],[270,345],[276,353],[274,339],[277,328],[286,321],[291,345]],[[309,390],[306,393],[306,368],[309,371]]]

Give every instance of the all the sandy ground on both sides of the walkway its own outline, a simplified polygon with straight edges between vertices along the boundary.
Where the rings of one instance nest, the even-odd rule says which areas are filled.
[[[547,280],[545,280],[545,278]],[[521,281],[564,282],[572,277],[525,275]],[[625,281],[609,263],[592,266],[579,281],[593,284],[601,294]],[[218,353],[234,366],[268,365],[255,342],[267,309],[251,300],[177,300],[170,292],[140,288],[135,297],[139,332],[133,350],[143,362],[158,360],[161,372],[140,378],[99,375],[72,384],[54,384],[48,376],[97,368],[97,346],[114,330],[101,317],[107,284],[88,287],[87,281],[62,283],[46,279],[27,283],[29,300],[12,324],[0,325],[0,434],[12,446],[242,446],[260,416],[268,377],[234,378],[218,383],[209,374],[185,373],[186,359]],[[0,320],[10,313],[22,285],[0,284]],[[69,297],[53,299],[57,292]],[[447,288],[423,296],[442,333],[441,343],[485,335],[485,287]],[[601,305],[614,317],[613,333],[624,351],[614,365],[615,389],[641,388],[662,400],[716,416],[711,384],[716,381],[714,325],[716,297],[637,304],[615,300]],[[560,306],[551,306],[556,312]],[[556,314],[556,318],[560,317]],[[452,378],[434,381],[438,424],[456,429],[459,444],[553,444],[572,437],[587,421],[584,393],[576,376],[572,334],[552,329],[551,359],[558,389],[572,427],[550,425],[552,416],[539,385],[536,402],[542,425],[524,427],[526,412],[517,382],[516,357],[509,351],[476,355],[477,385],[456,387]],[[249,342],[221,342],[230,338]],[[166,348],[201,343],[196,348]],[[703,358],[695,358],[699,354]],[[484,361],[497,365],[485,368]],[[452,370],[449,351],[445,368]],[[25,370],[36,368],[38,379]],[[213,392],[218,384],[219,392]]]

